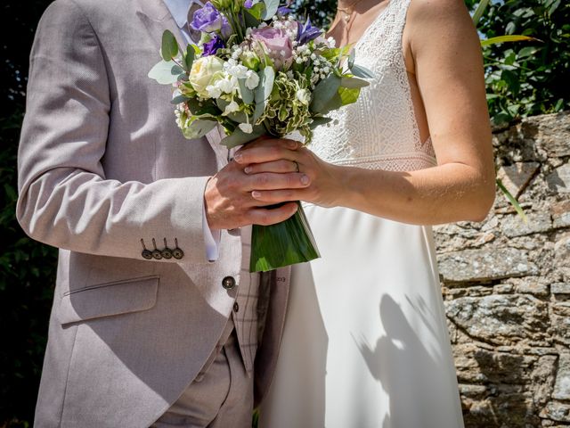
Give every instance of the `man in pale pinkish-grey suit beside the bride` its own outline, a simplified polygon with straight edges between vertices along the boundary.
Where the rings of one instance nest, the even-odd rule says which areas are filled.
[[[56,0],[39,23],[17,217],[60,253],[38,428],[246,427],[271,381],[289,270],[248,273],[248,225],[294,208],[250,191],[302,184],[176,127],[147,73],[191,3]]]

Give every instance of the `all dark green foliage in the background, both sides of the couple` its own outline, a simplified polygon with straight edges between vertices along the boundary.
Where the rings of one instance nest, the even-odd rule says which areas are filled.
[[[0,427],[28,426],[52,304],[56,251],[34,243],[14,218],[16,153],[24,111],[28,53],[49,0],[0,5]],[[466,0],[473,9],[474,0]],[[299,15],[326,28],[336,0],[300,0]],[[525,34],[540,39],[485,48],[491,115],[496,122],[570,107],[570,4],[566,0],[492,2],[479,22],[481,37]],[[14,35],[18,35],[14,37]],[[458,58],[460,61],[460,58]]]

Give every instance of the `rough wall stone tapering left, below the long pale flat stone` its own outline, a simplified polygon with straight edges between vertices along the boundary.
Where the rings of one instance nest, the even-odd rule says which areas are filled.
[[[521,341],[548,346],[548,304],[533,296],[461,297],[444,305],[447,317],[478,340],[499,346]]]

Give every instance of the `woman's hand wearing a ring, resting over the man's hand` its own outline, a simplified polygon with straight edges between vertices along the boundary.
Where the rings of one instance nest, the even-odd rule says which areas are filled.
[[[302,189],[253,190],[251,196],[268,204],[287,200],[313,202],[322,207],[339,205],[346,193],[343,167],[322,161],[297,141],[286,141],[290,150],[283,151],[282,139],[257,140],[236,152],[234,160],[245,166],[246,174],[299,172],[310,185]],[[253,159],[257,163],[251,163]]]

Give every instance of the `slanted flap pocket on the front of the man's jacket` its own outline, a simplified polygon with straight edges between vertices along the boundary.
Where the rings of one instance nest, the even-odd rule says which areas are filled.
[[[157,301],[159,276],[94,284],[66,292],[60,300],[61,325],[151,309]]]

